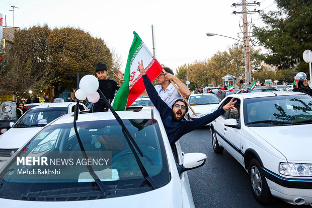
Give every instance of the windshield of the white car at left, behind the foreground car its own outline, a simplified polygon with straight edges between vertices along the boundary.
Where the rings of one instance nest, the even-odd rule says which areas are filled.
[[[30,109],[13,126],[13,128],[29,128],[45,126],[54,119],[67,113],[67,108],[38,108]]]

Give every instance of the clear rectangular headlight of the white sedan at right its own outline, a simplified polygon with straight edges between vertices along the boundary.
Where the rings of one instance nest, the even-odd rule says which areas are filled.
[[[279,172],[288,176],[312,176],[312,164],[280,163]]]

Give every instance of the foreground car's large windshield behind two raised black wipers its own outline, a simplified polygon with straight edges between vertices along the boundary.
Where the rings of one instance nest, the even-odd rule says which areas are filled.
[[[142,157],[139,154],[138,157],[148,175],[158,187],[169,183],[167,156],[157,121],[126,119],[123,122],[142,152]],[[103,194],[89,174],[87,162],[110,192],[106,198],[153,190],[116,120],[77,122],[77,130],[88,161],[84,159],[72,123],[47,126],[0,173],[3,184],[0,197],[17,200],[35,197],[44,201],[101,198]],[[21,162],[32,157],[47,158],[47,165],[34,163],[35,160],[24,165]]]

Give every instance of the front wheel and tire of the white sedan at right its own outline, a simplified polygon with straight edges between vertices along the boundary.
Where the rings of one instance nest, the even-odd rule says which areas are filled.
[[[256,200],[261,204],[269,203],[272,199],[271,191],[257,159],[254,158],[250,161],[248,172],[251,181],[251,190]]]

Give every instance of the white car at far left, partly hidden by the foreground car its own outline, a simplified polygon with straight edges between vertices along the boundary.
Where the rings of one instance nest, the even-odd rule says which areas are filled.
[[[0,166],[20,147],[27,143],[38,131],[55,118],[74,111],[74,102],[40,103],[31,108],[16,122],[12,128],[0,135]],[[88,110],[80,104],[80,110]]]

